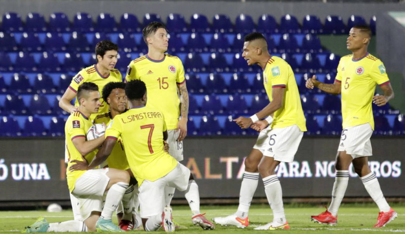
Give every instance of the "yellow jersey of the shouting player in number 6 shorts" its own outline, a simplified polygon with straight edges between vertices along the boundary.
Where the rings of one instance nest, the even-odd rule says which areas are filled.
[[[298,86],[290,64],[280,57],[271,56],[263,69],[263,84],[270,101],[273,100],[271,94],[273,88],[285,88],[283,104],[274,112],[271,128],[297,125],[301,131],[307,131]]]

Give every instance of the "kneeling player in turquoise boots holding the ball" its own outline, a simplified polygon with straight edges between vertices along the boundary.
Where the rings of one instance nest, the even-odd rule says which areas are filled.
[[[72,113],[65,124],[66,147],[69,155],[66,176],[70,192],[77,198],[82,219],[61,223],[48,223],[40,217],[24,232],[120,232],[111,221],[111,215],[128,190],[130,176],[125,170],[103,168],[95,170],[70,169],[77,162],[91,161],[94,150],[100,147],[104,138],[86,141],[85,135],[93,123],[89,116],[97,113],[100,107],[100,93],[94,83],[85,82],[77,90],[79,108]],[[98,166],[98,165],[97,165]],[[102,196],[107,197],[101,209]]]

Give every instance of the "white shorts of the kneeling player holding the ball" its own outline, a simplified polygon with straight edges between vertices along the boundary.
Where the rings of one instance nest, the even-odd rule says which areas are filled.
[[[88,170],[76,180],[72,195],[77,198],[81,221],[90,217],[92,211],[102,211],[102,196],[110,181],[108,168]]]

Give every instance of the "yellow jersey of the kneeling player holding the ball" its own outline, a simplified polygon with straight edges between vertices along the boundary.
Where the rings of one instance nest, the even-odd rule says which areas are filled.
[[[69,191],[72,192],[75,189],[76,180],[84,173],[85,170],[70,171],[69,168],[72,165],[71,160],[82,161],[81,154],[73,145],[72,140],[78,137],[86,138],[87,130],[93,126],[92,121],[83,115],[80,111],[72,113],[65,123],[65,138],[66,138],[66,151],[68,153],[68,167],[66,169],[66,179],[68,181]],[[84,155],[87,162],[92,162],[96,151],[92,151]]]

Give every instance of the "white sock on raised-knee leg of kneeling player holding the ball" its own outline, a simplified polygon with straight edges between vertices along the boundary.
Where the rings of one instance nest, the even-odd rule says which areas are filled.
[[[113,215],[115,209],[117,209],[118,203],[121,202],[122,196],[124,196],[128,185],[128,183],[118,182],[113,184],[108,190],[105,198],[104,208],[101,212],[101,217],[103,219],[111,219],[111,216]]]

